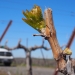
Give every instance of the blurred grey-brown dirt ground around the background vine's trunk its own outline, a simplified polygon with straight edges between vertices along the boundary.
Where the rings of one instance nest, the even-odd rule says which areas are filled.
[[[53,75],[54,69],[50,68],[40,68],[40,67],[33,67],[32,73],[33,75]],[[26,68],[25,67],[0,67],[0,75],[25,75]],[[58,74],[62,75],[62,74]]]

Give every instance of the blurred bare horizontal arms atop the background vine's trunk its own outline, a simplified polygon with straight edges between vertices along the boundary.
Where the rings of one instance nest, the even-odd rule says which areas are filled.
[[[31,47],[31,48],[27,48],[26,46],[22,45],[22,44],[21,44],[21,39],[19,40],[17,46],[15,46],[15,47],[13,47],[13,48],[8,47],[8,46],[7,46],[7,42],[8,42],[8,41],[6,41],[6,42],[5,42],[5,45],[4,45],[4,48],[7,49],[7,50],[15,50],[15,49],[19,49],[19,48],[22,48],[22,49],[24,49],[25,51],[34,51],[34,50],[40,49],[40,48],[43,48],[43,49],[45,49],[45,50],[50,50],[50,49],[51,49],[51,48],[47,48],[47,47],[44,46],[44,39],[43,39],[43,41],[42,41],[42,45],[41,45],[41,46],[37,46],[37,45],[36,45],[36,46],[34,46],[34,47]],[[1,47],[2,47],[2,46],[0,46],[0,48],[1,48]]]

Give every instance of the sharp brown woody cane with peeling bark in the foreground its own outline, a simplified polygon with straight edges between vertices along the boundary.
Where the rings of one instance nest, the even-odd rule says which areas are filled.
[[[58,70],[59,71],[65,71],[66,68],[66,61],[64,60],[62,49],[60,48],[58,44],[58,40],[56,37],[56,30],[54,28],[53,24],[53,17],[52,17],[52,10],[49,8],[45,10],[45,22],[46,22],[46,40],[48,40],[53,56],[57,62]]]

